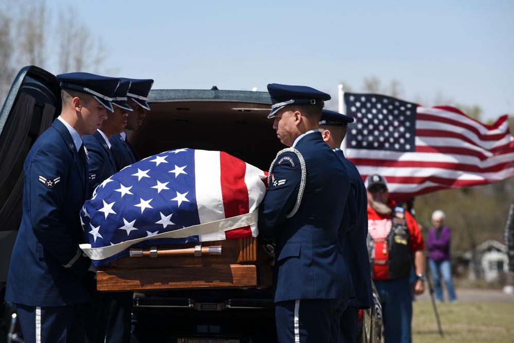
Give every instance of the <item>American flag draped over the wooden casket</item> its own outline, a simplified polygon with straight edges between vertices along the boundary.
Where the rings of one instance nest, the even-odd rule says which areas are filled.
[[[80,211],[96,266],[129,248],[256,237],[266,173],[220,151],[176,149],[104,180]]]

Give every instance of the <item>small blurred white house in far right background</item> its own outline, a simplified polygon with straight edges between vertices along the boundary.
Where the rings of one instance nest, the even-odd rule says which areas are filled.
[[[464,256],[469,261],[469,279],[476,280],[473,254],[467,251]],[[509,273],[507,247],[495,240],[487,240],[476,247],[475,261],[480,263],[480,273],[484,280],[492,282]]]

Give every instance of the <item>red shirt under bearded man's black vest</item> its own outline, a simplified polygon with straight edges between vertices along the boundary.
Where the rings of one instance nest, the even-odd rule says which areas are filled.
[[[389,208],[393,209],[395,207],[394,201],[389,199],[389,203],[387,204]],[[415,251],[423,250],[425,247],[425,242],[423,240],[423,236],[421,235],[421,231],[419,229],[418,223],[414,219],[414,217],[409,213],[409,211],[405,211],[405,220],[407,228],[409,229],[410,241],[409,244],[411,246],[411,253],[414,254]],[[391,232],[392,227],[392,217],[391,213],[389,214],[381,214],[375,211],[373,208],[368,206],[368,232],[369,235],[375,240],[375,260],[383,260],[387,261],[387,254],[383,254],[384,243],[379,242],[379,240],[385,239],[389,232]],[[385,251],[388,249],[386,248]],[[406,256],[405,258],[412,258],[412,256]],[[378,264],[375,263],[373,266],[373,280],[388,280],[388,270],[387,264]]]

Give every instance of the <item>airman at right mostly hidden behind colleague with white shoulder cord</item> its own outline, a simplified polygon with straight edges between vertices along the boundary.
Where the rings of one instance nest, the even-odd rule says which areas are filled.
[[[353,290],[355,290],[355,298],[348,301],[348,306],[340,317],[339,328],[333,328],[336,333],[339,333],[339,339],[333,337],[332,341],[345,343],[357,341],[359,309],[369,309],[374,303],[366,245],[368,234],[366,187],[357,167],[345,158],[343,150],[341,150],[348,123],[351,122],[353,122],[352,117],[330,110],[323,110],[320,120],[320,131],[323,140],[338,155],[348,172],[350,192],[348,193],[347,204],[355,203],[355,209],[352,210],[357,212],[355,227],[350,228],[340,241],[351,275]]]

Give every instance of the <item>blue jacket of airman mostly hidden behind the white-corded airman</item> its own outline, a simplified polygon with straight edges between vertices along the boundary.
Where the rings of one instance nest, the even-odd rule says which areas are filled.
[[[348,264],[349,273],[355,290],[355,300],[350,300],[361,309],[373,305],[373,289],[371,288],[371,271],[366,238],[368,234],[367,192],[362,177],[355,165],[344,157],[342,150],[335,154],[341,158],[350,178],[348,196],[355,197],[357,206],[356,227],[349,230],[341,240],[343,254]]]

